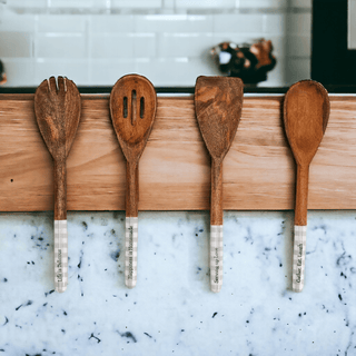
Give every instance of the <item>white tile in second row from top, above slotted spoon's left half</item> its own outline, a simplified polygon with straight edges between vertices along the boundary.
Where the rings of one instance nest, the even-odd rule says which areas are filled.
[[[96,14],[90,20],[92,33],[134,32],[135,30],[135,16],[132,14]]]

